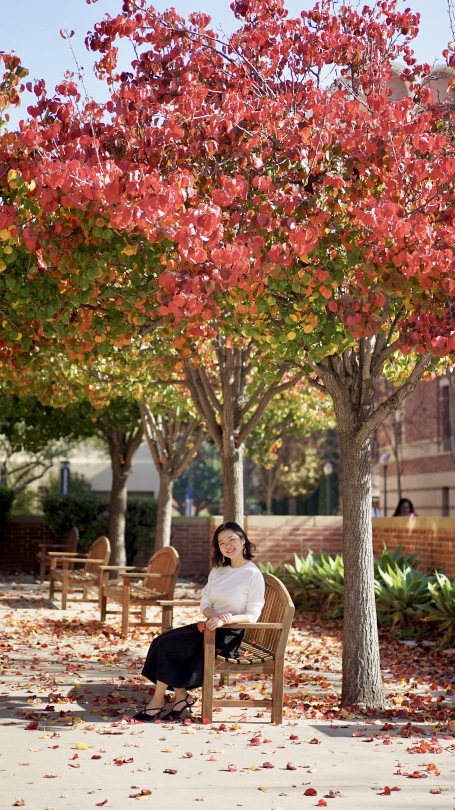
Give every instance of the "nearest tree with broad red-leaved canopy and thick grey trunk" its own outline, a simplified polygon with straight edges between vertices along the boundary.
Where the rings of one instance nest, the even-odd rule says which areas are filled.
[[[191,379],[195,345],[227,335],[238,352],[254,343],[264,374],[285,363],[330,394],[342,701],[381,707],[369,436],[432,356],[455,349],[453,104],[433,99],[411,50],[418,15],[394,0],[336,13],[323,0],[297,19],[281,0],[231,7],[240,27],[223,38],[208,15],[125,0],[86,40],[111,88],[105,105],[81,110],[74,82],[52,98],[36,83],[29,119],[0,149],[6,342],[20,362],[23,340],[57,338],[83,355],[95,341],[153,345],[159,330]],[[137,53],[128,70],[120,37]],[[397,352],[406,373],[399,364],[375,407]],[[204,395],[221,424],[230,403]]]

